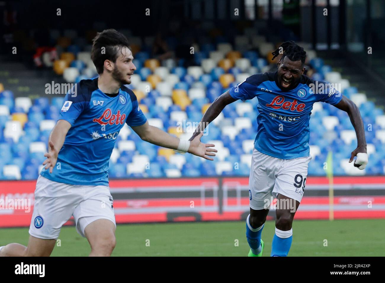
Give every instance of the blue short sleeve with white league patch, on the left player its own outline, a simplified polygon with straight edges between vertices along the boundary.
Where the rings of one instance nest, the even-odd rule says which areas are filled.
[[[74,95],[69,92],[65,95],[58,120],[65,120],[73,126],[77,117],[80,116],[86,106],[87,100],[83,94]]]

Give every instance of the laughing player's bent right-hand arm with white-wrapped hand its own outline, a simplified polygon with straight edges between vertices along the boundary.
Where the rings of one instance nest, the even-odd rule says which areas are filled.
[[[364,169],[368,163],[368,156],[366,154],[365,130],[363,127],[360,111],[358,110],[357,105],[355,105],[354,102],[348,99],[345,95],[343,95],[341,101],[334,106],[348,113],[350,121],[352,122],[352,125],[356,131],[357,148],[352,152],[349,162],[352,162],[353,158],[357,156],[357,160],[354,163],[354,166],[358,167],[359,169]]]

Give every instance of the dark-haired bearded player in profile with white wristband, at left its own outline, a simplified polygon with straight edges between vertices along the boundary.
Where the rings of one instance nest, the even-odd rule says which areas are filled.
[[[91,53],[99,77],[81,80],[74,94],[65,96],[36,183],[28,246],[8,244],[0,247],[0,256],[49,256],[71,216],[90,243],[90,256],[111,255],[116,224],[108,167],[124,123],[152,144],[208,160],[215,156],[214,145],[201,143],[201,136],[181,141],[149,126],[134,92],[124,86],[136,70],[124,35],[113,29],[98,33]]]

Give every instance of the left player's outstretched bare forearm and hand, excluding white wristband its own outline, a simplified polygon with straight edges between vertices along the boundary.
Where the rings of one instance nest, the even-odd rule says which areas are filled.
[[[143,141],[156,144],[157,146],[178,149],[180,139],[171,136],[170,134],[162,131],[157,127],[150,126],[147,121],[141,126],[132,127],[132,129],[138,134],[139,137],[141,137]],[[214,160],[209,156],[215,156],[214,152],[217,152],[217,150],[211,148],[214,146],[214,144],[204,144],[200,142],[202,135],[203,133],[190,142],[190,146],[187,152],[208,160]]]

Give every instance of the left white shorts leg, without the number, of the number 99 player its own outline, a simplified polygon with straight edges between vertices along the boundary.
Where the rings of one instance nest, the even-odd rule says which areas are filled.
[[[268,209],[275,185],[278,158],[253,150],[249,176],[249,204],[253,210]]]

